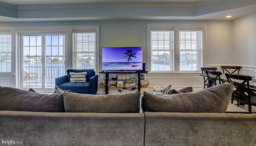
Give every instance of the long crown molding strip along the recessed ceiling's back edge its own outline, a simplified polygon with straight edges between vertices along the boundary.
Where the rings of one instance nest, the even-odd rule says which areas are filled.
[[[90,3],[90,4],[56,4],[56,5],[20,5],[18,9],[49,9],[49,8],[111,8],[111,7],[195,7],[196,3]]]

